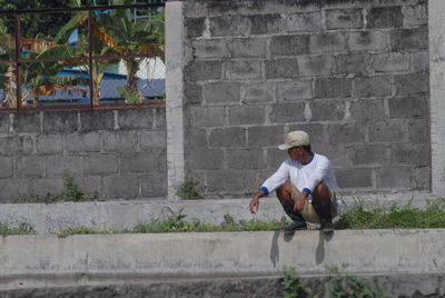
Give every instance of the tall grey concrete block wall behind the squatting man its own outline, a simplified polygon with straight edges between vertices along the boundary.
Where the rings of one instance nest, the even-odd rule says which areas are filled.
[[[427,4],[185,2],[187,178],[247,195],[303,129],[343,193],[429,190]]]

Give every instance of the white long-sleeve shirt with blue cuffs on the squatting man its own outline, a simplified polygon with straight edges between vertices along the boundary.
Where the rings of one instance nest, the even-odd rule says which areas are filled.
[[[320,181],[324,181],[332,191],[338,192],[330,161],[325,156],[317,153],[314,153],[313,159],[307,163],[287,158],[278,170],[263,183],[261,189],[267,195],[286,180],[290,180],[299,191],[306,191],[309,195]]]

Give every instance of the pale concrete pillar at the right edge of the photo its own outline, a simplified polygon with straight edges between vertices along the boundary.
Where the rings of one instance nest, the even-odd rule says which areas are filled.
[[[445,196],[445,1],[428,1],[432,190]]]

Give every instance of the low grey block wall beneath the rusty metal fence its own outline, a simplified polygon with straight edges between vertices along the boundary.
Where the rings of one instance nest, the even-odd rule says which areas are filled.
[[[165,108],[0,113],[0,201],[60,193],[63,171],[101,199],[167,195]]]

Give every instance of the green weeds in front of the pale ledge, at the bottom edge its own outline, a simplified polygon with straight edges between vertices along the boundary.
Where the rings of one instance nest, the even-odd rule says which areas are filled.
[[[346,268],[346,265],[343,265],[342,268]],[[339,272],[338,267],[330,266],[327,267],[326,270],[332,275],[329,277],[329,297],[333,298],[386,298],[390,297],[384,294],[385,289],[383,286],[377,286],[377,289],[374,289],[365,279],[342,275]],[[305,286],[300,278],[298,277],[295,268],[284,268],[281,270],[281,276],[284,277],[280,285],[283,286],[283,296],[285,298],[297,298],[297,297],[307,297],[315,298],[317,297],[314,291]]]

